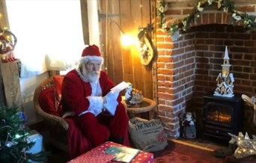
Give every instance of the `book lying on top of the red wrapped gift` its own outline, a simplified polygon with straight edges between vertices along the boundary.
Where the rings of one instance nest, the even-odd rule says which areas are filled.
[[[105,152],[115,156],[115,158],[112,159],[113,162],[129,163],[132,162],[132,159],[134,159],[141,150],[130,147],[110,146],[105,150]]]

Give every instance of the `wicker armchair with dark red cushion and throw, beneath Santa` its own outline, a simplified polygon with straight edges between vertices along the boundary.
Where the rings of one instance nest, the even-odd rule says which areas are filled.
[[[45,79],[34,90],[34,108],[43,118],[43,125],[49,130],[49,143],[70,155],[70,159],[91,150],[91,143],[82,135],[73,117],[61,117],[63,111],[55,107],[54,77]],[[129,146],[129,135],[124,138],[124,145]]]

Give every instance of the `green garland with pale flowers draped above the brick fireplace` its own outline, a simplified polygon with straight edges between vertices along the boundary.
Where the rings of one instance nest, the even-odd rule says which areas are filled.
[[[164,29],[171,36],[179,31],[182,33],[191,28],[193,22],[195,22],[198,17],[204,13],[205,10],[208,10],[211,6],[216,5],[217,10],[222,10],[225,13],[231,13],[232,16],[228,20],[228,23],[231,25],[243,25],[248,29],[248,32],[251,33],[256,31],[256,22],[255,16],[250,16],[247,13],[242,13],[238,10],[235,10],[234,1],[230,0],[198,0],[194,12],[189,14],[183,19],[175,19],[173,22],[167,22],[165,18],[165,12],[168,10],[168,6],[164,0],[157,1],[156,12],[158,16],[158,26],[159,28]]]

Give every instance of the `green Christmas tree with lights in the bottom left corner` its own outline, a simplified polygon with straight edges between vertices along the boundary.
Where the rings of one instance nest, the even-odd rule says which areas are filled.
[[[18,108],[0,107],[0,162],[45,162],[49,152],[28,153],[34,142],[29,140],[25,114]]]

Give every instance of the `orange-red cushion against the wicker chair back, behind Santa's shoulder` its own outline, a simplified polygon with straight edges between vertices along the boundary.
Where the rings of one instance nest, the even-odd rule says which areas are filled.
[[[54,97],[55,97],[55,109],[62,109],[61,106],[61,87],[64,76],[52,76],[53,84],[54,84]]]

